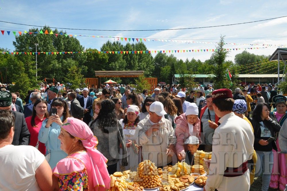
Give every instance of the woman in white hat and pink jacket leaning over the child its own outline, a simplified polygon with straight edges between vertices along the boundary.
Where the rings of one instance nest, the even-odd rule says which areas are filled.
[[[198,107],[195,103],[190,103],[187,106],[186,112],[175,118],[177,124],[175,128],[175,136],[177,137],[177,143],[175,150],[177,152],[177,158],[179,160],[185,159],[185,151],[187,151],[185,140],[190,136],[200,138],[200,120],[198,118]]]

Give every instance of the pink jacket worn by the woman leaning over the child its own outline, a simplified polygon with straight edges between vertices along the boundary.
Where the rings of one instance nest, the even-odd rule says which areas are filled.
[[[174,119],[175,123],[177,124],[175,128],[175,136],[177,137],[177,143],[175,145],[175,150],[177,154],[180,152],[187,151],[186,146],[184,145],[185,140],[190,137],[189,129],[188,129],[188,122],[185,116],[185,113],[181,114],[177,118]],[[197,118],[196,122],[193,124],[193,136],[196,136],[199,139],[199,144],[201,144],[200,138],[200,120]]]

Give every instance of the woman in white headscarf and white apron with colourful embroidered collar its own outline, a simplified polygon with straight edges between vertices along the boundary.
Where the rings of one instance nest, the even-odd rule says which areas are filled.
[[[129,164],[127,166],[121,166],[120,170],[131,170],[136,171],[139,164],[139,146],[137,145],[135,138],[135,129],[137,128],[137,123],[139,123],[139,107],[135,105],[129,105],[127,108],[127,115],[125,119],[120,120],[123,127],[123,133],[125,134],[127,154]],[[121,164],[121,161],[119,162]]]

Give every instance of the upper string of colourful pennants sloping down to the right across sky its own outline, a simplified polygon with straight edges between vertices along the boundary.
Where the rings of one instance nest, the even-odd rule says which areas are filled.
[[[8,35],[10,35],[11,31],[7,30],[0,30],[2,35],[5,35],[5,31],[7,32]],[[48,30],[45,30],[44,32],[41,30],[40,32],[27,32],[26,30],[24,31],[12,31],[14,36],[17,35],[17,32],[19,35],[32,35],[32,34],[46,34],[46,35],[55,35],[58,37],[58,35],[65,35],[66,37],[93,37],[93,38],[111,38],[117,41],[126,41],[126,42],[146,42],[146,41],[159,41],[159,42],[173,42],[173,43],[201,43],[201,44],[217,44],[216,42],[201,42],[201,41],[192,41],[192,40],[177,40],[177,39],[152,39],[152,38],[128,38],[128,37],[112,37],[112,36],[98,36],[98,35],[68,35],[68,34],[54,34],[53,31],[51,30],[50,33]],[[251,46],[286,46],[286,45],[272,45],[272,44],[241,44],[241,43],[225,43],[227,45],[251,45]]]

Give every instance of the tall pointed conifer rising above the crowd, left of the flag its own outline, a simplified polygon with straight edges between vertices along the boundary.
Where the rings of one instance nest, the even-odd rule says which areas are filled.
[[[226,64],[225,59],[228,55],[228,51],[224,49],[224,37],[225,36],[220,36],[220,41],[216,46],[216,51],[210,58],[210,62],[214,66],[214,69],[212,70],[214,77],[211,77],[214,89],[229,89],[230,87],[230,81],[227,81],[226,79],[228,64]]]

